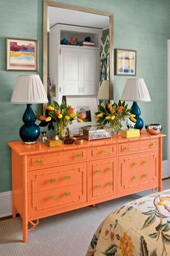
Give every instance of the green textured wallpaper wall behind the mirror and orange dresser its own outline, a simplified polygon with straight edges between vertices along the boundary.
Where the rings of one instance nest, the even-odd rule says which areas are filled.
[[[169,0],[64,0],[113,12],[115,48],[138,51],[137,77],[143,77],[151,94],[151,103],[140,103],[143,119],[160,122],[166,133],[166,42],[170,38]],[[11,190],[11,151],[9,140],[19,140],[24,105],[12,105],[10,99],[19,74],[5,71],[5,38],[32,38],[40,42],[42,77],[42,0],[0,0],[0,192]],[[29,72],[30,74],[30,72]],[[127,77],[115,76],[115,101],[120,98]],[[36,106],[34,106],[36,108]],[[38,106],[40,108],[40,106]],[[166,159],[166,140],[164,140]]]

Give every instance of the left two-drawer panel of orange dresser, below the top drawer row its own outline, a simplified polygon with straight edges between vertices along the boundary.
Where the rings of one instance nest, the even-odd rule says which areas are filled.
[[[30,171],[28,192],[31,216],[86,202],[86,163]]]

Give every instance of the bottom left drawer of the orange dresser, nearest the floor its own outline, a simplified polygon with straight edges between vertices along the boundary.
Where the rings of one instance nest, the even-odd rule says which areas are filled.
[[[66,208],[71,205],[86,202],[86,184],[76,184],[58,189],[38,192],[29,197],[29,213],[36,213]]]

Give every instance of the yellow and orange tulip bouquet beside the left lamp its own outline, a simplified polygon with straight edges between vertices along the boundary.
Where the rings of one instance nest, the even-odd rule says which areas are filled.
[[[62,101],[59,105],[56,101],[53,101],[49,106],[45,108],[45,115],[37,114],[37,119],[41,122],[40,127],[48,127],[48,129],[54,129],[53,123],[57,125],[58,135],[64,137],[66,127],[71,124],[74,119],[78,122],[83,123],[83,119],[86,117],[84,113],[80,111],[74,112],[71,106],[66,106],[66,102]]]

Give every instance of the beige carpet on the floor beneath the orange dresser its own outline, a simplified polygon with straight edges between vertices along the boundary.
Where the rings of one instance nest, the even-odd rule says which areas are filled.
[[[169,189],[170,179],[163,182]],[[29,232],[28,242],[22,243],[21,218],[0,221],[1,256],[84,256],[94,231],[113,209],[151,193],[151,190],[103,202],[97,208],[81,208],[69,213],[40,219]]]

